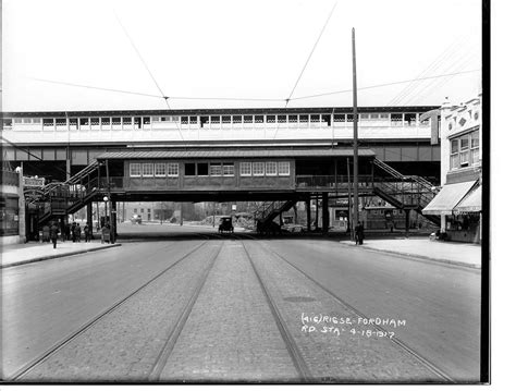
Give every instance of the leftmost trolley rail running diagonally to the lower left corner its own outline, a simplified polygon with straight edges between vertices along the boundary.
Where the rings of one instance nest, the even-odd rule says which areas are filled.
[[[123,298],[119,300],[116,303],[113,305],[109,306],[107,309],[102,310],[100,314],[97,316],[93,317],[90,320],[85,322],[83,326],[61,339],[60,341],[56,342],[53,345],[51,345],[49,349],[47,349],[42,354],[38,355],[27,364],[23,365],[20,369],[17,369],[14,374],[7,376],[8,379],[12,381],[16,380],[22,380],[23,377],[29,374],[33,369],[38,367],[41,363],[47,361],[48,358],[52,357],[56,355],[59,351],[61,351],[63,347],[65,347],[69,343],[74,341],[76,338],[78,338],[81,334],[93,328],[96,323],[98,323],[100,320],[105,319],[107,316],[110,314],[114,313],[119,307],[121,307],[123,304],[125,304],[127,301],[136,296],[138,293],[140,293],[145,288],[153,283],[156,280],[161,278],[163,274],[165,274],[168,271],[173,269],[175,266],[177,266],[180,262],[183,260],[187,259],[191,255],[193,255],[195,252],[199,251],[202,246],[205,246],[208,243],[208,241],[205,241],[187,252],[185,255],[176,259],[172,265],[168,266],[165,269],[161,270],[157,274],[155,274],[151,279],[147,280],[144,284],[139,285],[137,289],[133,290],[130,294],[125,295]],[[171,244],[172,245],[172,244]],[[158,251],[153,252],[152,255],[158,253]]]

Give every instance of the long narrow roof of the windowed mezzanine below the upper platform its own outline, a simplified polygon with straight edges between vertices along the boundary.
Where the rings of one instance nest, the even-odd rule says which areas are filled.
[[[373,158],[371,149],[358,149],[359,157]],[[97,160],[120,159],[247,159],[247,158],[343,158],[353,157],[353,148],[305,149],[201,149],[201,150],[127,150],[105,152]]]

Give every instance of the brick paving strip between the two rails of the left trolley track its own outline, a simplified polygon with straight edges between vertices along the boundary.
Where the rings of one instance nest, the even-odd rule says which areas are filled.
[[[219,244],[200,247],[27,372],[23,381],[145,381]]]

